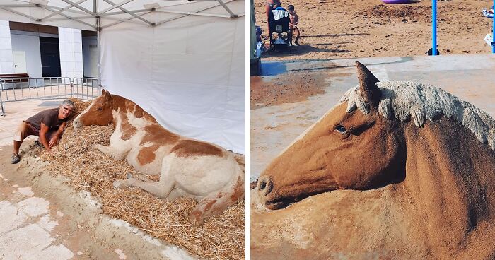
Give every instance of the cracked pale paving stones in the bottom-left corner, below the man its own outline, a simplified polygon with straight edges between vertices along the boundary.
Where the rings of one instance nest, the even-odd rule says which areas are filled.
[[[50,210],[50,201],[34,196],[30,187],[0,178],[0,259],[71,259],[66,240],[53,234],[64,214]]]

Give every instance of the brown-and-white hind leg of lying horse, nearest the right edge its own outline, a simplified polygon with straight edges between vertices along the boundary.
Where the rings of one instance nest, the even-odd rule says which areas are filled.
[[[221,213],[229,206],[244,198],[244,175],[240,172],[234,178],[234,182],[227,185],[219,192],[214,192],[201,199],[192,210],[189,219],[195,225],[202,225],[206,218]]]

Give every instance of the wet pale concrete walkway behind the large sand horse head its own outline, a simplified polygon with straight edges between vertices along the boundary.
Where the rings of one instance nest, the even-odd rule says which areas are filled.
[[[437,57],[375,57],[262,63],[262,79],[276,81],[291,73],[320,73],[325,94],[309,100],[251,110],[251,179],[281,150],[358,85],[355,61],[365,64],[380,81],[428,83],[458,96],[495,118],[495,54]]]

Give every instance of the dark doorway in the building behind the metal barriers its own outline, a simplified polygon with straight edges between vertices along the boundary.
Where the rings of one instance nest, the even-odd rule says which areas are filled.
[[[41,73],[43,77],[59,77],[59,38],[40,37]]]

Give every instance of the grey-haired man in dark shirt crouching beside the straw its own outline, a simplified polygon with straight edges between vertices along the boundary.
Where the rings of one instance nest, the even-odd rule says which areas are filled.
[[[36,141],[37,145],[51,150],[57,144],[59,138],[62,137],[62,133],[74,107],[74,102],[64,100],[59,107],[43,110],[23,121],[13,136],[11,162],[17,163],[21,160],[21,157],[19,157],[19,148],[21,148],[21,144],[28,136],[39,136],[40,138]]]

